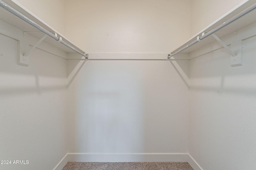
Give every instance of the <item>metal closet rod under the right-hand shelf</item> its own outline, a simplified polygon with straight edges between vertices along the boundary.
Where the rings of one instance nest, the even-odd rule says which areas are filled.
[[[186,45],[185,47],[183,47],[182,49],[176,51],[175,53],[168,55],[168,59],[170,59],[170,57],[180,53],[181,51],[184,51],[185,49],[187,49],[188,47],[194,45],[195,43],[198,43],[199,41],[202,41],[203,39],[205,39],[206,37],[212,35],[213,33],[219,31],[220,29],[226,27],[228,24],[238,20],[239,18],[241,18],[242,16],[245,16],[246,14],[252,12],[253,10],[256,9],[256,3],[253,4],[252,6],[246,8],[245,10],[243,10],[242,12],[240,12],[239,14],[236,14],[235,16],[233,16],[232,18],[230,18],[229,20],[227,20],[226,22],[220,24],[218,27],[212,29],[211,31],[205,33],[204,35],[202,35],[202,37],[197,37],[197,39],[195,41],[193,41],[192,43]]]

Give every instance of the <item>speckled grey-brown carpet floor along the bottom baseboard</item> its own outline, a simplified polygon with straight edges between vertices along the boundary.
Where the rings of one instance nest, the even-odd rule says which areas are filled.
[[[62,170],[193,170],[188,162],[68,162]]]

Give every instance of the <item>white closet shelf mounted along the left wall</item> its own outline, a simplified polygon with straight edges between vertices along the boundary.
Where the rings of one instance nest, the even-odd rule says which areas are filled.
[[[20,5],[15,0],[2,0],[2,1],[5,2],[6,4],[8,4],[9,6],[11,6],[12,8],[14,8],[15,10],[17,10],[18,12],[20,12],[21,14],[23,14],[24,16],[26,16],[27,18],[29,18],[30,20],[37,23],[38,25],[40,25],[47,31],[52,32],[52,33],[57,33],[59,38],[62,37],[62,41],[64,41],[68,45],[74,47],[74,49],[76,49],[80,53],[85,54],[85,52],[82,49],[80,49],[79,47],[74,45],[74,43],[72,43],[70,40],[68,40],[66,37],[64,37],[62,34],[60,34],[58,31],[56,31],[50,25],[48,25],[47,23],[42,21],[40,18],[35,16],[32,12],[30,12],[29,10],[24,8],[24,6]],[[38,38],[38,39],[41,39],[45,35],[45,33],[43,33],[42,31],[38,30],[37,28],[33,27],[26,21],[18,18],[14,14],[8,12],[7,10],[5,10],[4,8],[1,8],[1,7],[0,7],[0,20],[2,20],[2,21],[6,22],[6,23],[8,23],[8,24],[10,24],[10,25],[12,25],[12,26]],[[46,39],[44,39],[44,42],[46,42],[58,49],[61,49],[62,51],[66,52],[66,53],[74,53],[75,52],[72,49],[66,47],[65,45],[59,43],[58,41],[56,41],[55,39],[53,39],[49,36],[46,37]]]

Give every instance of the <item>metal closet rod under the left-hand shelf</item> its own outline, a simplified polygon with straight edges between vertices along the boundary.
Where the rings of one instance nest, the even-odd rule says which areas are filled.
[[[14,8],[12,8],[11,6],[9,6],[8,4],[6,4],[5,2],[3,2],[2,0],[0,0],[0,6],[4,9],[6,9],[7,11],[9,11],[10,13],[14,14],[15,16],[17,16],[18,18],[26,21],[27,23],[29,23],[30,25],[32,25],[33,27],[36,27],[37,29],[39,29],[40,31],[46,33],[47,35],[49,35],[50,37],[52,37],[53,39],[55,39],[56,41],[62,43],[63,45],[65,45],[66,47],[72,49],[73,51],[75,51],[76,53],[84,56],[86,59],[88,58],[88,55],[81,53],[80,51],[78,51],[77,49],[75,49],[74,47],[72,47],[71,45],[69,45],[68,43],[66,43],[65,41],[62,41],[62,38],[58,38],[55,35],[53,35],[50,31],[46,30],[45,28],[43,28],[42,26],[38,25],[37,23],[35,23],[34,21],[30,20],[28,17],[24,16],[23,14],[21,14],[20,12],[18,12],[17,10],[15,10]]]

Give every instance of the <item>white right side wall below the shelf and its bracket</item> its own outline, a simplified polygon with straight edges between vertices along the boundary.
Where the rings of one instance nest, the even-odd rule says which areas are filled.
[[[189,154],[204,170],[256,169],[255,29],[229,39],[245,39],[243,66],[223,48],[190,60]]]

